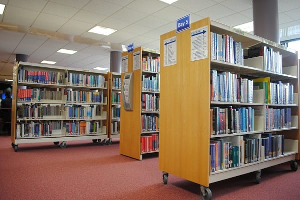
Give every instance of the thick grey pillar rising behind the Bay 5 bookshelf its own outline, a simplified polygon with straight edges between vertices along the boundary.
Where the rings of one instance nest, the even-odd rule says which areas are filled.
[[[252,0],[254,35],[279,43],[278,0]]]

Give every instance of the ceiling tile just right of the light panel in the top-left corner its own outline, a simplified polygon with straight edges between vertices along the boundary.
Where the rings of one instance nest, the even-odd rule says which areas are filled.
[[[30,26],[38,14],[38,11],[7,5],[4,12],[3,22]]]

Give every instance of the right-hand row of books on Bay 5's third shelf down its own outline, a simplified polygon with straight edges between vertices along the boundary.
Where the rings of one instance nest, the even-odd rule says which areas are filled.
[[[272,108],[265,106],[265,129],[283,129],[291,127],[291,108]]]

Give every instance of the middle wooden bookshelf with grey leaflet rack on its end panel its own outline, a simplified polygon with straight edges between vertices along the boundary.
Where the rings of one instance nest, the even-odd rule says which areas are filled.
[[[143,154],[158,152],[159,51],[137,47],[123,52],[121,93],[124,76],[132,72],[132,109],[121,106],[120,154],[142,160]],[[126,66],[124,66],[126,65]],[[121,98],[121,105],[124,99]]]

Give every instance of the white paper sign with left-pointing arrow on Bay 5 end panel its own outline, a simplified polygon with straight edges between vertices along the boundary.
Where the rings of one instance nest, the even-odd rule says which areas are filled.
[[[163,40],[163,66],[177,63],[177,41],[176,36]]]

